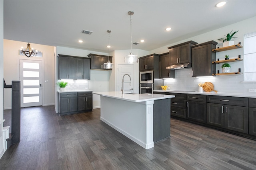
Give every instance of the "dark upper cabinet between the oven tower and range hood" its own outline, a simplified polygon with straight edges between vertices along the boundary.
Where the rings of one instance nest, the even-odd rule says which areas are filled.
[[[160,54],[159,57],[159,78],[175,78],[175,70],[166,69],[171,63],[169,53]]]

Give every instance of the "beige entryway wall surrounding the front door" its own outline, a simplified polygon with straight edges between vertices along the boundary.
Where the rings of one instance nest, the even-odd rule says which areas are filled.
[[[12,80],[20,80],[19,60],[42,60],[42,104],[43,106],[54,105],[54,47],[30,43],[30,47],[43,53],[43,57],[26,57],[19,55],[19,49],[26,48],[26,42],[4,39],[4,80],[6,84],[12,84]],[[48,80],[48,82],[45,82]],[[12,107],[12,90],[4,89],[4,109]]]

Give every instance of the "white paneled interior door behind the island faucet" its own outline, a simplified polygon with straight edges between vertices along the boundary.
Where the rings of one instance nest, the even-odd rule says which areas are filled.
[[[131,77],[128,75],[129,74]],[[121,91],[122,80],[124,76],[124,93],[134,93],[134,64],[119,64],[118,65],[118,91]],[[131,84],[130,84],[131,82]]]

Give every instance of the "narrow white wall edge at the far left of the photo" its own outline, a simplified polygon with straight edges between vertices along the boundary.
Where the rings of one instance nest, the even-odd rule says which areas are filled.
[[[0,1],[0,158],[4,154],[4,136],[3,136],[3,119],[4,119],[4,56],[3,56],[3,39],[4,39],[4,1]]]

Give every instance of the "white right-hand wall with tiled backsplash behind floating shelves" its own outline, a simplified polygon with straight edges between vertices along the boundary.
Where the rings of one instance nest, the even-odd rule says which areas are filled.
[[[219,38],[224,37],[227,33],[230,33],[230,31],[238,31],[236,33],[235,37],[238,37],[234,39],[235,44],[238,44],[241,42],[241,45],[243,45],[244,41],[244,34],[246,33],[251,33],[256,31],[256,17],[249,18],[244,21],[240,21],[238,23],[234,23],[232,25],[228,25],[226,27],[222,27],[220,29],[216,29],[195,37],[190,37],[188,39],[184,39],[182,41],[179,41],[177,43],[173,43],[170,45],[166,45],[164,47],[154,49],[150,51],[150,53],[166,53],[168,52],[168,48],[172,45],[176,45],[179,43],[183,43],[186,41],[196,41],[198,43],[204,43],[207,41],[214,40],[216,41]],[[222,47],[222,42],[219,42],[217,45]],[[229,51],[223,51],[216,53],[216,59],[224,60],[224,55],[229,55],[230,59],[232,58],[237,58],[238,55],[241,55],[241,58],[243,59],[244,57],[244,52],[243,48],[240,49],[234,49],[234,50],[229,50]],[[239,62],[233,62],[230,63],[231,69],[230,72],[238,72],[238,68],[241,68],[241,72],[244,70],[244,62],[239,61]],[[216,65],[216,70],[220,70],[220,73],[222,72],[221,70],[221,64]],[[176,78],[175,79],[169,79],[165,80],[165,85],[169,85],[172,90],[195,90],[198,91],[198,83],[199,82],[212,82],[214,84],[214,89],[217,90],[218,92],[228,92],[228,93],[248,93],[248,94],[253,94],[252,92],[248,92],[248,88],[256,88],[256,83],[251,82],[251,83],[244,83],[243,82],[243,74],[242,75],[237,75],[237,76],[216,76],[213,78],[192,78],[191,76],[192,69],[182,69],[182,70],[176,70]]]

